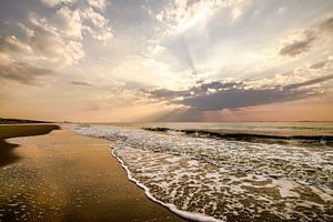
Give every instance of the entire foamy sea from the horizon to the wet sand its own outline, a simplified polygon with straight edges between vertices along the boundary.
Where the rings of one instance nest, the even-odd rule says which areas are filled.
[[[333,122],[88,123],[129,180],[192,221],[333,221]]]

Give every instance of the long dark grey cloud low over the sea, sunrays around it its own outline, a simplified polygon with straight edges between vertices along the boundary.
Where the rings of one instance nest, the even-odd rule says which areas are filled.
[[[285,87],[276,85],[266,89],[249,89],[245,82],[211,82],[199,84],[186,91],[155,90],[149,93],[154,99],[168,100],[171,103],[188,105],[201,111],[213,111],[309,98],[316,92],[303,87],[332,79],[333,74],[330,74]],[[214,89],[214,91],[211,92],[210,89]]]

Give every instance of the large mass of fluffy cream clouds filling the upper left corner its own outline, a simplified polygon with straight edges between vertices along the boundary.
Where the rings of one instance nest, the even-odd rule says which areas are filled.
[[[31,83],[39,75],[56,73],[84,58],[85,36],[103,43],[113,37],[110,21],[94,10],[104,9],[105,1],[87,1],[85,7],[77,6],[75,0],[42,0],[42,3],[54,8],[54,13],[41,17],[31,12],[27,21],[14,27],[20,30],[10,29],[23,34],[0,36],[0,53],[10,61],[1,62],[1,79]],[[4,28],[9,24],[1,23]]]

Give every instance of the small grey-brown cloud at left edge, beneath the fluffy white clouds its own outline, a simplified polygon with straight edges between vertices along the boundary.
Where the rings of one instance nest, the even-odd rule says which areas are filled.
[[[33,84],[38,77],[53,74],[49,69],[33,67],[26,62],[1,63],[0,80],[14,80],[24,84]]]

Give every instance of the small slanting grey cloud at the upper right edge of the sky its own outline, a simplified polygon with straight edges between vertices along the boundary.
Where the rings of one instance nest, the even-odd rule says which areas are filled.
[[[333,32],[333,16],[329,17],[315,27],[309,28],[301,32],[299,38],[291,43],[287,43],[280,50],[281,56],[296,57],[307,52],[312,44],[324,36],[332,38]]]

